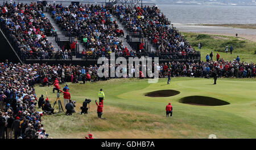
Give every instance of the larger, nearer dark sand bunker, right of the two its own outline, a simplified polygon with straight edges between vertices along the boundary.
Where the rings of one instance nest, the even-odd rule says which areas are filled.
[[[183,97],[179,100],[179,102],[190,105],[201,105],[201,106],[221,106],[228,105],[229,102],[219,100],[213,97],[207,96],[188,96]]]

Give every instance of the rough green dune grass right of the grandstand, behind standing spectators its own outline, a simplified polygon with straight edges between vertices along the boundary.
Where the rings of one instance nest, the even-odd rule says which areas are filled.
[[[201,52],[201,61],[205,61],[205,56],[213,52],[213,61],[216,61],[218,53],[220,58],[228,61],[236,59],[237,55],[239,55],[240,61],[256,62],[256,42],[245,40],[244,38],[200,33],[182,32],[181,35],[184,35],[193,48]],[[198,49],[199,42],[203,45],[202,49]],[[230,47],[230,45],[234,48],[233,53],[226,54],[225,48],[226,46]]]

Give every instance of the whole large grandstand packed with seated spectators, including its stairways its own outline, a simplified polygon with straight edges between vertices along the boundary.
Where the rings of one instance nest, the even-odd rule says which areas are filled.
[[[22,63],[54,64],[58,60],[93,65],[98,58],[115,53],[116,57],[125,58],[159,57],[160,62],[200,62],[200,52],[157,6],[133,2],[4,3],[1,37],[6,50],[2,57]]]

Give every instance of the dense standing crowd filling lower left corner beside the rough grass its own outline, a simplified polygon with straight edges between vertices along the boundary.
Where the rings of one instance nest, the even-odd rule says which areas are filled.
[[[0,138],[46,139],[41,123],[42,112],[35,111],[39,67],[13,64],[0,65]],[[39,69],[40,71],[40,69]],[[42,71],[42,70],[41,70]]]

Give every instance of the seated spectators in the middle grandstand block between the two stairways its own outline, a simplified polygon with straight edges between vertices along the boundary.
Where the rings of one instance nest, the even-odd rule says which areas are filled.
[[[109,7],[100,5],[49,5],[52,18],[56,20],[62,31],[69,37],[77,37],[85,49],[85,59],[109,57],[115,53],[117,57],[135,57],[135,50],[129,50],[118,39],[123,36],[117,22],[111,18]],[[74,51],[75,47],[72,49]]]

